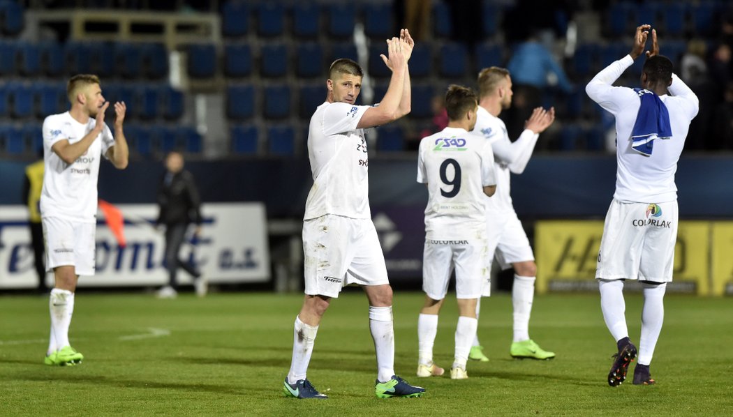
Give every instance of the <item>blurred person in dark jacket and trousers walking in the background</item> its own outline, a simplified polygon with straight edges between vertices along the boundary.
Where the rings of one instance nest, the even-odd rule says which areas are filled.
[[[166,173],[158,189],[158,226],[163,226],[166,233],[166,268],[169,284],[158,290],[159,298],[175,298],[178,293],[176,274],[183,268],[194,277],[194,288],[197,296],[205,296],[207,282],[201,272],[186,260],[178,256],[185,240],[186,230],[191,223],[196,225],[194,236],[201,231],[201,199],[196,189],[194,176],[183,169],[183,154],[171,151],[166,156]]]

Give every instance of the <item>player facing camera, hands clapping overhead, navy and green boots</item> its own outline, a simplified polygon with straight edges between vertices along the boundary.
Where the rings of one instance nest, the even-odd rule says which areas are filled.
[[[377,397],[420,397],[424,388],[394,375],[392,289],[369,211],[369,156],[364,129],[410,112],[408,60],[414,42],[403,29],[387,41],[383,61],[392,75],[377,107],[356,105],[361,67],[336,59],[328,71],[328,95],[311,118],[308,155],[313,187],[303,221],[306,296],[293,331],[292,363],[284,381],[287,396],[327,398],[306,378],[313,343],[331,298],[345,285],[361,285],[369,299],[369,328],[377,354]]]

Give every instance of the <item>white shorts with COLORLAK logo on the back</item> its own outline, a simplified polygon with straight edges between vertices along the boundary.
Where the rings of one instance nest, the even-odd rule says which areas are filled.
[[[677,201],[611,202],[605,215],[596,278],[671,282]]]

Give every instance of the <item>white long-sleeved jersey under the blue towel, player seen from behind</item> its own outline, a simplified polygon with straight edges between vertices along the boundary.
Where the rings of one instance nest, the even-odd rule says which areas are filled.
[[[631,147],[631,130],[641,100],[633,89],[614,87],[611,84],[633,64],[631,56],[615,61],[599,72],[586,86],[586,93],[605,110],[616,116],[616,192],[620,201],[638,203],[664,203],[677,200],[674,173],[677,160],[685,146],[690,121],[697,115],[698,99],[690,88],[672,74],[668,87],[671,96],[659,98],[669,112],[672,137],[656,139],[654,151],[644,156]]]

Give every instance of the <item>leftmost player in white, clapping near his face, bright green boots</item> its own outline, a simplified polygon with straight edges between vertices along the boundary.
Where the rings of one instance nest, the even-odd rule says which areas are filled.
[[[45,173],[40,200],[45,265],[56,280],[49,302],[51,341],[44,362],[62,366],[84,359],[69,343],[69,326],[79,275],[95,272],[100,157],[125,169],[129,155],[122,132],[125,102],[114,103],[113,136],[104,123],[109,102],[96,75],[74,75],[67,84],[67,96],[69,111],[43,121]]]

